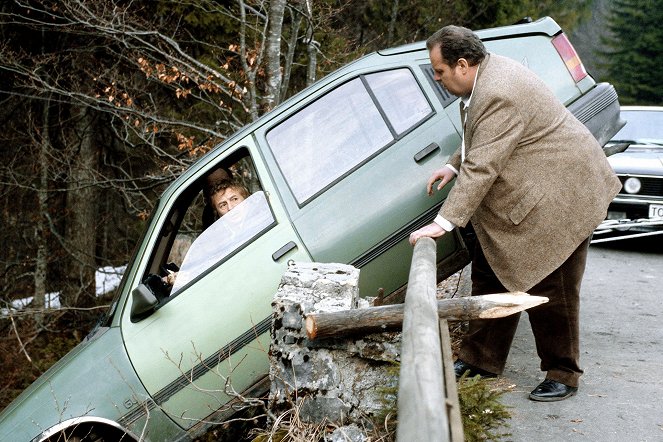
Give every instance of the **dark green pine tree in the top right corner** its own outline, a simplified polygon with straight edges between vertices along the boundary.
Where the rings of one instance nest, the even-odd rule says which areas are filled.
[[[615,0],[608,15],[608,35],[600,52],[606,80],[622,104],[663,103],[663,0]]]

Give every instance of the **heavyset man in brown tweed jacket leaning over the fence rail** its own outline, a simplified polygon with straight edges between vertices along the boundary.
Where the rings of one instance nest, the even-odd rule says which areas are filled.
[[[489,54],[471,30],[446,26],[426,42],[435,80],[461,97],[461,147],[428,180],[456,178],[437,238],[472,222],[472,295],[526,291],[550,301],[528,311],[545,380],[531,393],[557,401],[578,390],[579,291],[589,238],[621,184],[591,132],[534,73]],[[519,315],[470,323],[456,376],[502,373]]]

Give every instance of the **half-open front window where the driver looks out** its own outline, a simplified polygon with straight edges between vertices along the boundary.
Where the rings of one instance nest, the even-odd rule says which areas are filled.
[[[219,170],[223,173],[210,179]],[[214,203],[231,190],[240,198],[220,215]],[[160,298],[179,293],[274,222],[253,161],[242,148],[181,193],[162,227],[145,281]]]

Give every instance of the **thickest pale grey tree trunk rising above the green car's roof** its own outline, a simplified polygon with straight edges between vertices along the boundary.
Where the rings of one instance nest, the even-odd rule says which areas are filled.
[[[263,99],[265,111],[278,104],[281,92],[281,32],[287,0],[271,0],[265,47],[266,91]]]

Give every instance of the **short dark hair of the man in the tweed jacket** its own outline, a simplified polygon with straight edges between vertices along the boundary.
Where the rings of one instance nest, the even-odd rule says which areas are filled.
[[[464,58],[475,66],[486,58],[486,47],[481,39],[470,29],[462,26],[448,25],[431,35],[426,40],[429,51],[439,47],[442,60],[452,68],[458,60]]]

